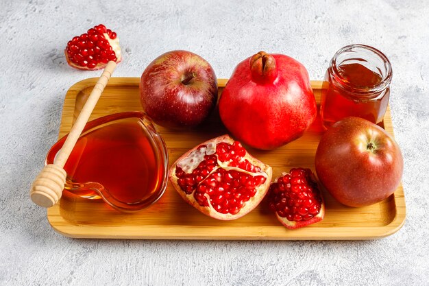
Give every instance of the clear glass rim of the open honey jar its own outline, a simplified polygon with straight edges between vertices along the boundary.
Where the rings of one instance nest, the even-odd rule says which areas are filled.
[[[354,84],[350,84],[345,78],[343,78],[343,75],[339,72],[339,66],[337,65],[337,58],[344,53],[345,51],[354,49],[354,48],[360,48],[367,51],[371,51],[374,55],[378,56],[384,63],[384,67],[386,69],[385,75],[382,75],[382,80],[378,84],[368,85],[368,86],[354,86]],[[365,59],[366,60],[366,59]],[[339,82],[341,86],[345,86],[345,88],[352,90],[356,93],[371,93],[371,92],[377,92],[381,91],[384,88],[386,88],[392,79],[392,66],[391,62],[387,58],[387,56],[384,55],[380,50],[363,44],[354,44],[354,45],[347,45],[345,47],[342,47],[332,57],[330,67],[332,68],[332,72],[334,73],[336,78],[339,78],[340,81],[336,80],[336,82]]]

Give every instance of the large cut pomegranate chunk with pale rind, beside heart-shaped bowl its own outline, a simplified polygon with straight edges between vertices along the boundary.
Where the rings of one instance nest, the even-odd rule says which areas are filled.
[[[215,219],[252,211],[265,197],[272,169],[228,135],[202,143],[180,157],[170,180],[186,202]]]

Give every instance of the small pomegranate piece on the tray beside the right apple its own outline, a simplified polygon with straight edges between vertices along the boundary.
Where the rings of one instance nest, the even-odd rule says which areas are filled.
[[[269,188],[269,208],[286,228],[295,229],[323,219],[325,204],[310,169],[291,169]]]

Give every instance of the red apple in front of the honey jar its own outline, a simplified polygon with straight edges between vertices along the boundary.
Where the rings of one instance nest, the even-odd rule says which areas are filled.
[[[370,121],[347,117],[323,134],[315,157],[317,176],[346,206],[367,206],[389,197],[402,178],[400,147]]]

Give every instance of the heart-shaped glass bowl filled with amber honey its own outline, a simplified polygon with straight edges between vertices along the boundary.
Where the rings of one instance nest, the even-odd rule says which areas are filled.
[[[46,164],[66,136],[47,154]],[[158,201],[168,180],[167,145],[144,112],[121,112],[86,124],[69,159],[64,191],[102,199],[123,212],[140,211]]]

